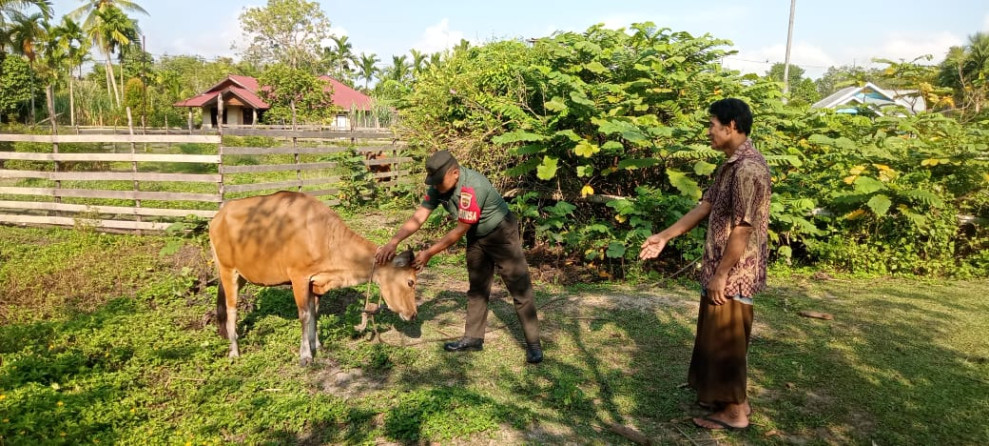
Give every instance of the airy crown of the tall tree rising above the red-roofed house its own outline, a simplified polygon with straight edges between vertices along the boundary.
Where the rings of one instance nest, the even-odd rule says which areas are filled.
[[[311,69],[318,64],[320,42],[331,37],[319,3],[306,0],[268,0],[267,6],[245,9],[240,23],[250,41],[243,56],[260,64]]]

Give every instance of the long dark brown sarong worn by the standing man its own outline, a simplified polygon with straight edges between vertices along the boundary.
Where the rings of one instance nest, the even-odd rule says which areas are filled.
[[[702,294],[687,383],[700,403],[739,404],[746,400],[752,305],[737,299],[723,305],[709,302]]]

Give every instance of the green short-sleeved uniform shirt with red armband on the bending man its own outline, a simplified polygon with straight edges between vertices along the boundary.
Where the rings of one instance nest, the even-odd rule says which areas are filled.
[[[491,182],[484,175],[471,169],[460,168],[457,187],[446,194],[440,194],[435,186],[429,186],[422,206],[436,209],[439,205],[455,215],[457,221],[477,225],[477,236],[488,235],[508,215],[508,203],[501,198]]]

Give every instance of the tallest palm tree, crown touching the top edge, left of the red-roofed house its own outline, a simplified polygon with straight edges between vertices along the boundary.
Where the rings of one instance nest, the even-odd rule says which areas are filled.
[[[118,107],[120,93],[117,91],[117,84],[113,81],[111,56],[115,49],[136,40],[139,32],[137,23],[124,14],[124,11],[148,14],[137,2],[130,0],[87,0],[85,4],[67,14],[73,20],[86,17],[82,22],[82,28],[103,51],[106,58],[107,94],[110,94],[112,89]]]

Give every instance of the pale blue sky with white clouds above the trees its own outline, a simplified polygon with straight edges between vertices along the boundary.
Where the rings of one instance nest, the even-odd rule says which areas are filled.
[[[159,55],[237,58],[246,41],[239,15],[263,0],[136,0],[148,15],[132,15]],[[331,32],[346,35],[355,54],[375,53],[384,62],[415,48],[431,53],[467,39],[483,44],[503,39],[609,28],[651,21],[659,27],[710,34],[732,41],[738,54],[724,65],[765,74],[783,62],[790,15],[788,0],[433,0],[319,1]],[[56,17],[83,0],[54,0]],[[913,60],[932,55],[939,63],[948,48],[968,36],[989,32],[987,0],[797,0],[790,63],[811,78],[830,66],[876,66],[871,59]],[[329,43],[329,42],[328,42]],[[239,45],[239,46],[238,46]],[[383,62],[383,63],[384,63]]]

